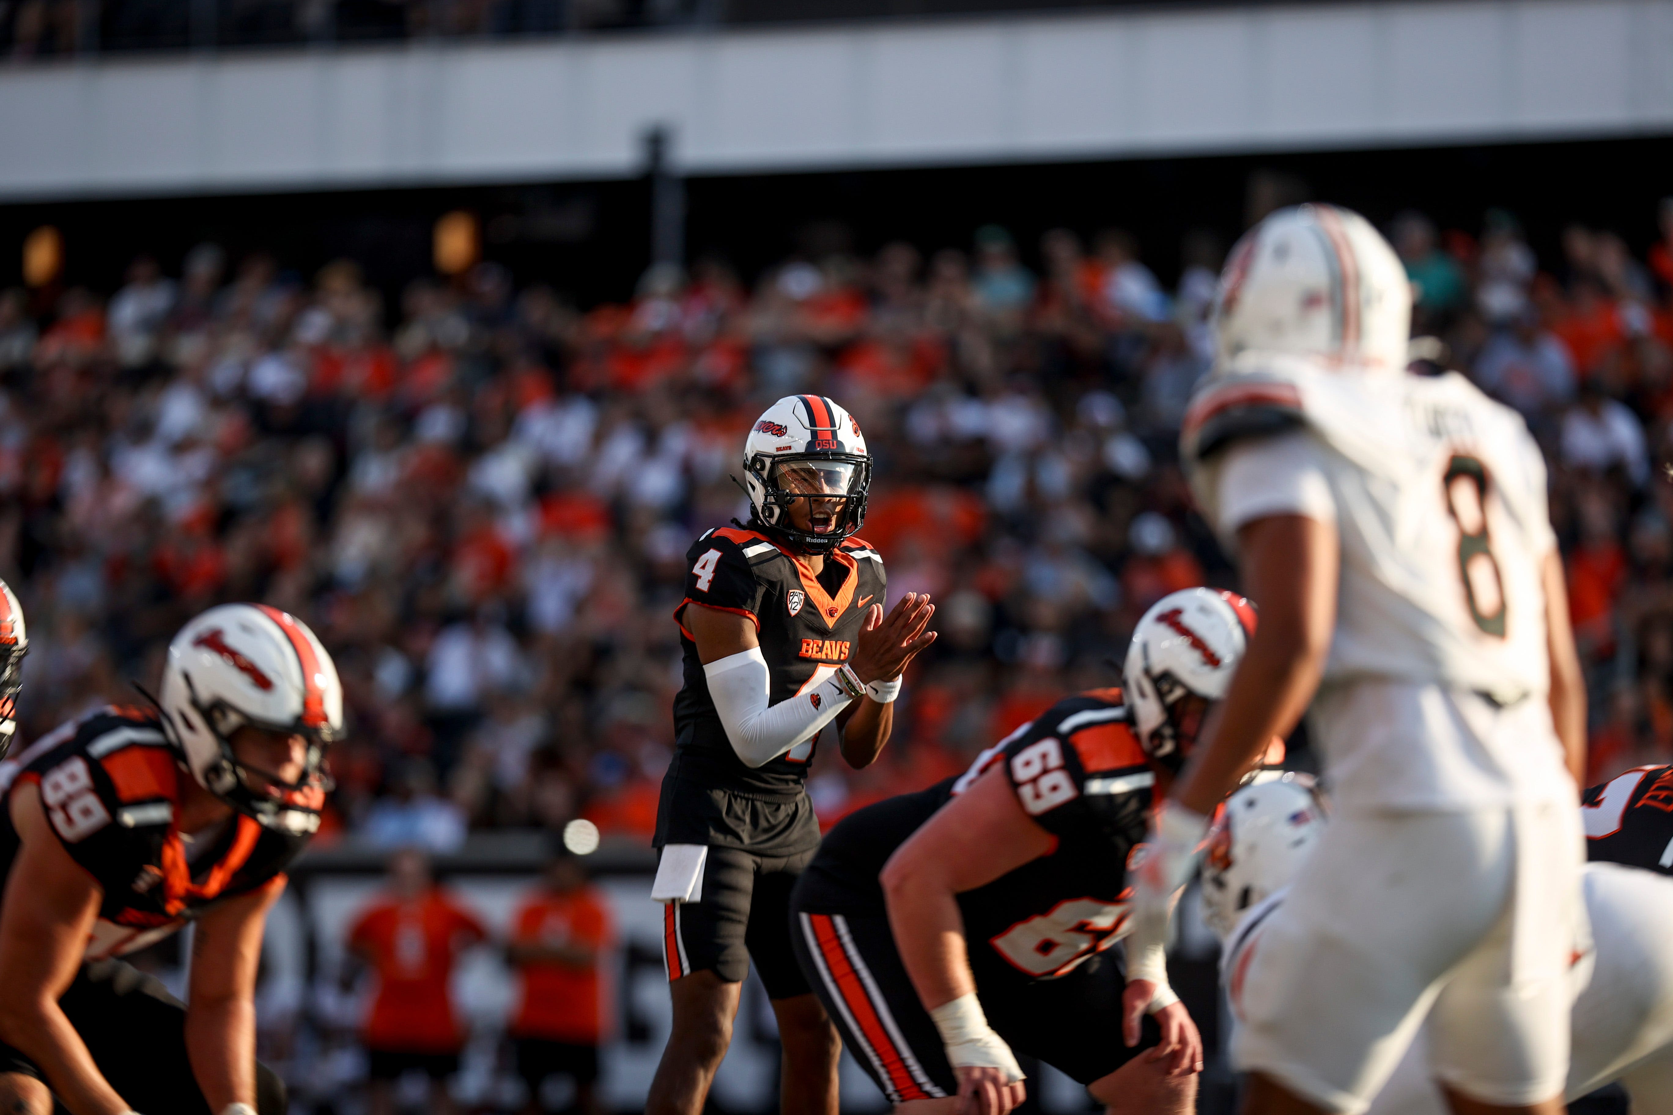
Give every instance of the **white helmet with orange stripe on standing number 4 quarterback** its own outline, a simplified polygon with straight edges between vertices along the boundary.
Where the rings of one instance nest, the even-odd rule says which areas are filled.
[[[786,395],[766,408],[743,443],[744,490],[755,522],[805,553],[830,553],[865,522],[872,455],[853,415],[823,395]],[[796,530],[790,503],[810,495],[842,498],[815,530]]]

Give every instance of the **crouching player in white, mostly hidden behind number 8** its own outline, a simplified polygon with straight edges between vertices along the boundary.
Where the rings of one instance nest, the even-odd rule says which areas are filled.
[[[1241,1011],[1245,961],[1260,950],[1261,924],[1283,903],[1325,814],[1305,776],[1246,786],[1215,821],[1203,861],[1203,914],[1225,944],[1221,980]],[[1673,1112],[1673,879],[1614,863],[1583,873],[1596,948],[1576,961],[1573,1048],[1564,1098],[1619,1082],[1633,1112]],[[1429,1075],[1420,1030],[1369,1115],[1445,1115]]]

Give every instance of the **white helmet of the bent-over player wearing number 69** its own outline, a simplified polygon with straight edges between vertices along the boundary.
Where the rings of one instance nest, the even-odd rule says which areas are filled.
[[[1255,605],[1221,588],[1181,588],[1133,629],[1121,669],[1144,754],[1179,772],[1208,705],[1226,695],[1255,634]]]

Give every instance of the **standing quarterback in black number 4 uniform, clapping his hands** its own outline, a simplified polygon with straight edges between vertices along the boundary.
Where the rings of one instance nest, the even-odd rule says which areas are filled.
[[[836,1035],[790,946],[790,889],[820,843],[805,782],[821,741],[865,767],[888,742],[902,670],[934,605],[883,614],[883,558],[857,537],[872,456],[831,400],[776,401],[744,441],[750,522],[686,553],[674,610],[684,687],[656,819],[674,1025],[647,1112],[698,1115],[750,963],[785,1046],[786,1107],[831,1112]]]

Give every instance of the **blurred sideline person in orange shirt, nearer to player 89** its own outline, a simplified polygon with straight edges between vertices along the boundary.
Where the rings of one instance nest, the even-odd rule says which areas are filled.
[[[458,955],[487,936],[477,916],[432,881],[423,853],[390,858],[388,894],[348,931],[348,951],[378,975],[363,1030],[371,1115],[393,1115],[395,1082],[410,1072],[430,1077],[432,1112],[453,1113],[447,1082],[458,1072],[465,1031],[448,980]]]

